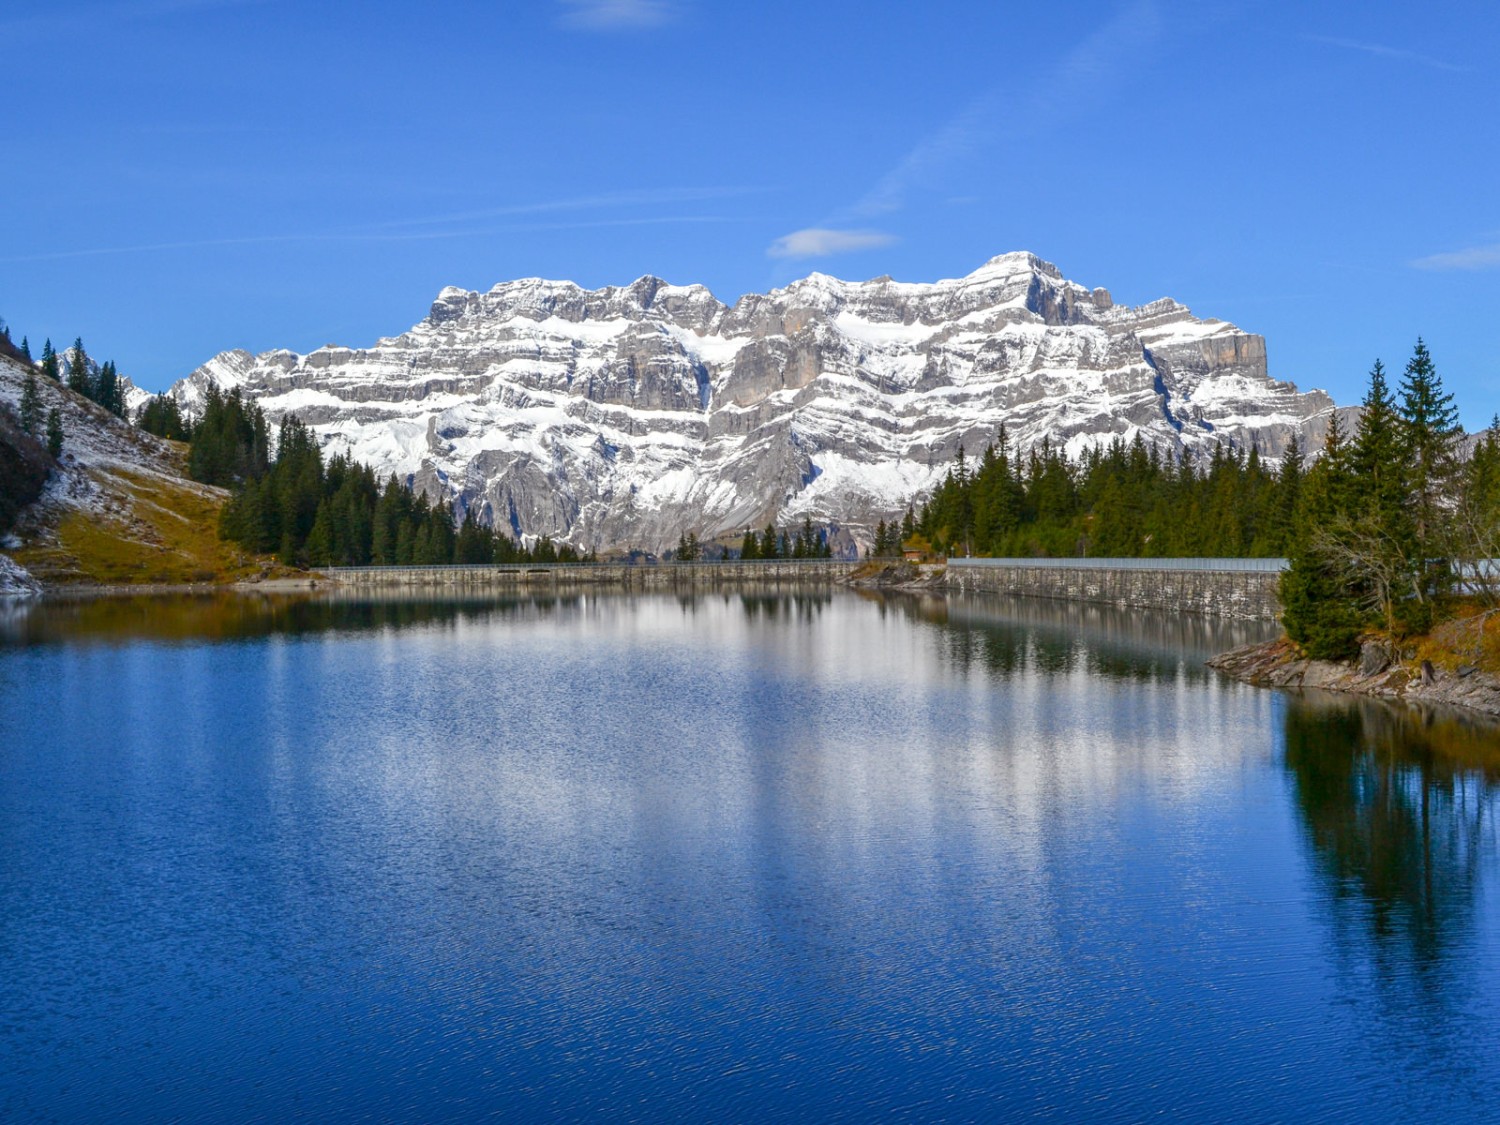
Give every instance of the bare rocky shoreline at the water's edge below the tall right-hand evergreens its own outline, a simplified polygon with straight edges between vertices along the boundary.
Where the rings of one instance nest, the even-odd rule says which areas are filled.
[[[1350,663],[1308,660],[1287,638],[1245,645],[1208,662],[1234,680],[1258,687],[1317,687],[1324,692],[1412,704],[1461,706],[1500,718],[1500,676],[1473,663],[1434,663],[1404,656],[1388,642],[1368,640]]]

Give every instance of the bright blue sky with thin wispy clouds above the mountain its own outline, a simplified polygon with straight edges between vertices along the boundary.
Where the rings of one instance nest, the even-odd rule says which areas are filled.
[[[148,388],[444,285],[1029,249],[1358,400],[1420,334],[1500,411],[1500,9],[0,0],[0,316]]]

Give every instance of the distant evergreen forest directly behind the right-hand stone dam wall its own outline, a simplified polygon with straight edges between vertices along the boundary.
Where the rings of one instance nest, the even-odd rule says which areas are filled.
[[[978,465],[958,450],[920,512],[876,525],[874,554],[915,538],[950,555],[1274,558],[1290,543],[1302,476],[1294,438],[1270,470],[1254,448],[1162,453],[1138,434],[1077,459],[1048,440],[1020,453],[1002,426]]]

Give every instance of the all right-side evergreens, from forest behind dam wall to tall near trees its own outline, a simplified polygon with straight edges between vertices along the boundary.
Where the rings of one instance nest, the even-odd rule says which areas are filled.
[[[1454,396],[1418,340],[1392,388],[1377,362],[1359,424],[1338,417],[1311,464],[1293,444],[1275,470],[1256,450],[1172,456],[1138,438],[1070,459],[1004,429],[964,454],[920,510],[876,528],[902,546],[990,556],[1286,556],[1288,636],[1317,658],[1359,636],[1425,633],[1464,609],[1500,606],[1478,572],[1500,556],[1500,418],[1467,456]]]

